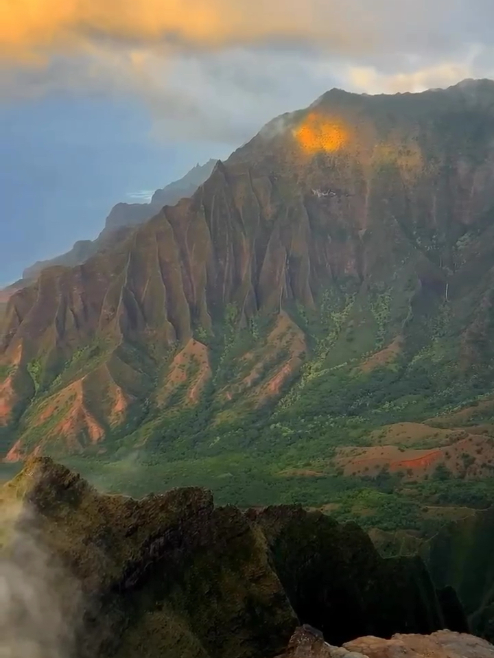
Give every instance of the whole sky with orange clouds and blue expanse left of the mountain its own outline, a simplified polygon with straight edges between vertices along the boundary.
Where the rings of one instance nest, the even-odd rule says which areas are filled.
[[[0,286],[338,86],[494,77],[492,0],[0,0]]]

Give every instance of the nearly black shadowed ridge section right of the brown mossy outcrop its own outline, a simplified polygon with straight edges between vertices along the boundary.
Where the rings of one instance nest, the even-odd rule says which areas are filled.
[[[383,559],[355,524],[302,508],[272,507],[248,516],[266,535],[298,618],[319,628],[327,642],[431,633],[447,625],[421,559]]]

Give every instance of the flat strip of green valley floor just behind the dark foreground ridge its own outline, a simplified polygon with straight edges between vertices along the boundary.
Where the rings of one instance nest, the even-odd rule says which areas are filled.
[[[283,465],[283,456],[278,456]],[[384,472],[378,478],[342,475],[290,475],[263,467],[252,454],[198,460],[146,458],[138,452],[119,460],[69,458],[64,463],[78,470],[98,489],[135,497],[163,493],[176,486],[211,489],[217,504],[242,508],[271,504],[302,504],[321,508],[338,521],[357,521],[363,528],[436,532],[445,519],[424,515],[427,507],[486,508],[494,500],[494,478],[403,483]]]

